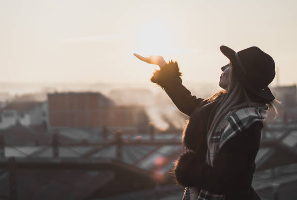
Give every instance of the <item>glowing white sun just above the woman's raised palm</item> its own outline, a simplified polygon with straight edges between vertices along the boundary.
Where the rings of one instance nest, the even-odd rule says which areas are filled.
[[[168,55],[172,48],[172,32],[161,22],[148,22],[140,27],[139,53],[144,56]]]

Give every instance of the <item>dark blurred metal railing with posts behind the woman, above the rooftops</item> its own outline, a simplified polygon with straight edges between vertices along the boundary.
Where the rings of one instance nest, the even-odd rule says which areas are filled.
[[[282,126],[282,127],[267,127],[264,126],[263,129],[263,140],[261,142],[262,147],[269,146],[280,146],[286,148],[293,154],[297,155],[296,148],[297,145],[293,147],[285,146],[281,140],[287,137],[292,131],[296,131],[296,127],[292,126]],[[267,138],[265,134],[267,132],[283,132],[281,136],[277,138]],[[115,132],[115,138],[112,140],[102,141],[102,142],[69,142],[61,143],[59,142],[59,133],[55,132],[52,135],[51,143],[45,144],[44,146],[52,148],[52,158],[44,159],[37,158],[34,156],[27,156],[25,158],[15,158],[15,157],[5,157],[5,147],[13,145],[6,144],[5,138],[0,135],[0,168],[7,169],[9,172],[9,188],[10,188],[10,198],[12,200],[17,200],[17,190],[16,190],[16,170],[17,169],[77,169],[77,170],[130,170],[134,173],[137,173],[142,176],[148,177],[150,180],[154,180],[153,175],[145,170],[140,169],[134,165],[127,164],[122,161],[122,149],[123,146],[143,146],[143,145],[181,145],[180,139],[171,138],[171,139],[155,139],[154,134],[150,133],[151,138],[147,140],[142,139],[123,139],[122,133],[120,131]],[[75,147],[75,146],[92,146],[95,147],[92,149],[92,152],[87,152],[86,154],[93,154],[100,151],[102,148],[115,145],[116,147],[116,159],[89,159],[86,157],[79,158],[61,158],[59,147]],[[15,147],[16,148],[16,147]],[[17,148],[16,148],[17,149]],[[85,154],[84,154],[85,155]],[[88,156],[87,156],[88,157]],[[278,188],[279,185],[276,184],[274,188],[274,197],[278,199]]]

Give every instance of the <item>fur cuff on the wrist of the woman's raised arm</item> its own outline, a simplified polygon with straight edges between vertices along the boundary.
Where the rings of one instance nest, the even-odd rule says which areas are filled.
[[[160,70],[156,70],[153,76],[150,78],[150,81],[158,84],[162,88],[172,82],[180,81],[181,82],[181,72],[180,67],[176,61],[169,61]]]

